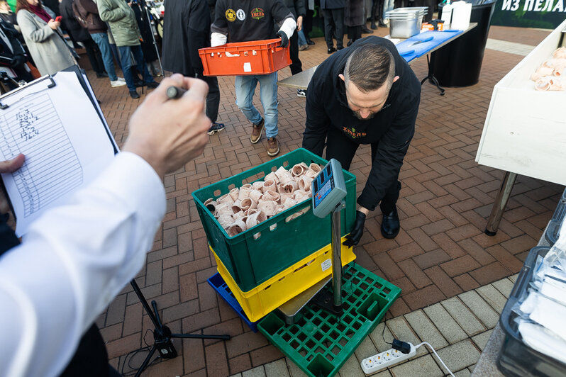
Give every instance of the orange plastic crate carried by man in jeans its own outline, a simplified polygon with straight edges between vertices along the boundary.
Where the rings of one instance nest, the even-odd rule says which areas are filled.
[[[270,74],[291,65],[289,46],[279,38],[226,43],[199,49],[205,76]]]

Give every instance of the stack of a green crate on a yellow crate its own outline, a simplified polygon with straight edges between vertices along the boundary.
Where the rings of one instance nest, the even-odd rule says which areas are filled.
[[[313,215],[311,201],[305,201],[230,237],[204,202],[232,188],[261,180],[279,167],[291,169],[301,162],[307,165],[327,163],[299,148],[192,194],[218,272],[252,322],[331,274],[331,218],[317,218]],[[346,208],[340,213],[340,233],[345,237],[355,221],[356,179],[348,171],[343,173],[348,193]],[[292,218],[303,210],[302,215]],[[353,249],[343,246],[343,265],[353,259]]]

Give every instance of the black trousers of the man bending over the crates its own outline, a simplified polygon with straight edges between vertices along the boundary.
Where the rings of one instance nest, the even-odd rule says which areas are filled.
[[[379,142],[372,142],[372,167],[378,146]],[[340,130],[332,126],[328,129],[328,135],[326,135],[326,159],[337,159],[342,164],[343,169],[350,170],[350,164],[352,164],[357,147],[360,147],[360,144],[350,140]],[[384,197],[379,203],[382,213],[392,213],[399,199],[399,191],[401,191],[401,182],[399,182],[399,179],[395,179],[387,188]]]

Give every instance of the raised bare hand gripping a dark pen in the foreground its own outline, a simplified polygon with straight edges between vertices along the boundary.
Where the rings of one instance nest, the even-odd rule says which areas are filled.
[[[188,89],[179,99],[168,99],[167,88]],[[130,118],[130,134],[123,151],[145,159],[159,176],[199,156],[209,141],[211,120],[204,114],[209,88],[204,81],[174,74],[161,81]]]

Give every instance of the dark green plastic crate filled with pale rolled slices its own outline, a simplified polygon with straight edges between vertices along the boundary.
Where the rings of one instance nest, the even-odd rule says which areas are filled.
[[[243,173],[223,179],[216,184],[200,188],[192,193],[196,209],[206,232],[209,244],[221,259],[240,290],[248,292],[269,278],[284,271],[331,242],[331,216],[317,218],[313,215],[311,201],[297,204],[278,215],[256,225],[250,230],[229,237],[216,218],[204,206],[208,198],[218,198],[234,187],[263,179],[279,167],[290,169],[305,162],[326,165],[326,159],[303,148],[272,159]],[[348,194],[346,208],[341,211],[341,234],[348,235],[355,221],[356,178],[343,170]],[[286,218],[304,208],[311,210],[289,222]],[[275,225],[274,229],[270,227]]]

